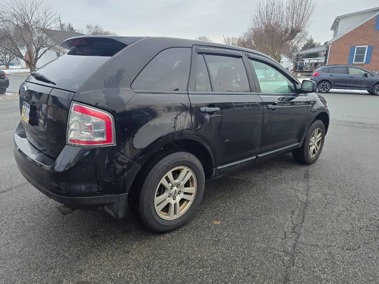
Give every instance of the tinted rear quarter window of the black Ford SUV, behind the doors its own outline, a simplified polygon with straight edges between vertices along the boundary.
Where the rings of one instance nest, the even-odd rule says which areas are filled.
[[[158,53],[138,74],[133,90],[186,91],[191,48],[172,47]]]

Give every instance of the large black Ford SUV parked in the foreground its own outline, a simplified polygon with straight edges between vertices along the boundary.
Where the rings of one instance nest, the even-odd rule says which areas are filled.
[[[206,179],[283,153],[311,164],[329,126],[316,84],[268,56],[168,37],[80,36],[20,86],[14,157],[25,178],[74,209],[150,230],[183,225]],[[230,189],[236,190],[236,189]]]

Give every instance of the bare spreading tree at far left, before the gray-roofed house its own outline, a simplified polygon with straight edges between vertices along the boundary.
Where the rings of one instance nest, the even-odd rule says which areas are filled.
[[[50,32],[59,28],[59,20],[42,0],[0,2],[0,36],[7,39],[2,48],[36,70],[38,59],[48,50],[61,51],[61,40]]]

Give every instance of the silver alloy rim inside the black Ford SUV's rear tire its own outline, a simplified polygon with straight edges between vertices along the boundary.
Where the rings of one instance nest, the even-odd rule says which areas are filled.
[[[165,220],[178,218],[191,206],[195,194],[195,174],[187,167],[176,167],[164,175],[155,190],[155,211]]]

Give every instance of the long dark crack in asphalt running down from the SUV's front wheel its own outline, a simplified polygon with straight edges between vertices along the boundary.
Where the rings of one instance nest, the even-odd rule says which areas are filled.
[[[296,207],[292,210],[291,215],[287,218],[283,225],[284,243],[283,251],[285,257],[283,257],[283,264],[285,265],[285,277],[283,283],[293,283],[289,278],[290,268],[295,266],[295,253],[296,245],[298,244],[299,237],[301,235],[301,229],[304,223],[305,214],[308,208],[308,196],[309,196],[309,166],[307,172],[304,173],[304,179],[306,180],[305,190],[302,193],[296,194],[298,201]]]

